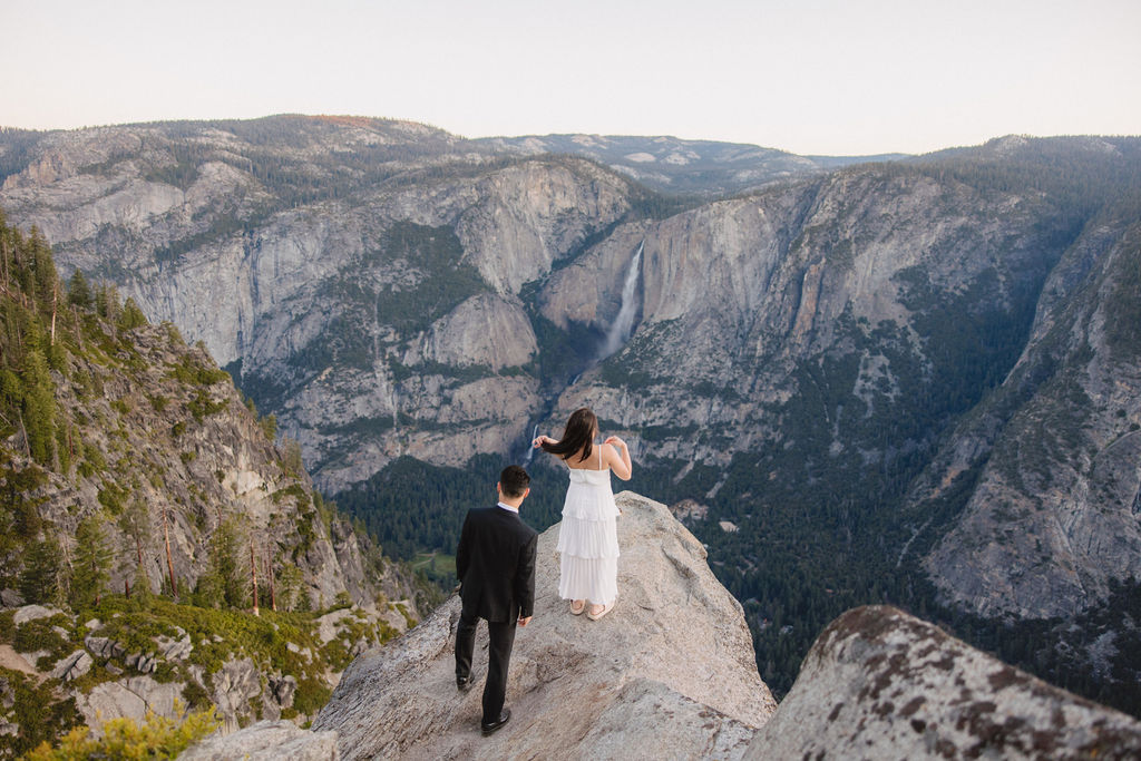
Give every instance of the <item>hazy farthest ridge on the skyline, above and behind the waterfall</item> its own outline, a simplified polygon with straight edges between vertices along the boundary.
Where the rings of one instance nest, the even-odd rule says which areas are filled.
[[[496,137],[477,143],[519,155],[585,156],[661,193],[704,197],[742,193],[849,164],[904,157],[904,154],[798,156],[742,143],[614,135]]]

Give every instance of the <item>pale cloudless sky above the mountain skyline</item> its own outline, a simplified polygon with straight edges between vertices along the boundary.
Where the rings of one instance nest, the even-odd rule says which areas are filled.
[[[277,113],[800,154],[1141,133],[1141,0],[0,0],[0,126]]]

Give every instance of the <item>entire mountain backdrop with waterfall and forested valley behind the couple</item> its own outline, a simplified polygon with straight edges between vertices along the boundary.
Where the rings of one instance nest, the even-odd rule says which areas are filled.
[[[775,690],[827,621],[887,601],[1141,712],[1141,139],[777,153],[804,173],[721,200],[606,159],[673,167],[680,141],[528,140],[301,116],[19,135],[0,207],[203,340],[405,557],[451,551],[462,505],[589,404],[633,488],[689,500]],[[703,151],[686,181],[704,161],[725,191],[733,151]]]

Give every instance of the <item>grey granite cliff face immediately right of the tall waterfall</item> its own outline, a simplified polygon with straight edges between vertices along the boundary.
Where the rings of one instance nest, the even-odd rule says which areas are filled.
[[[794,397],[803,394],[806,365],[843,358],[856,367],[835,379],[850,384],[847,398],[833,392],[844,414],[903,406],[901,383],[936,382],[900,378],[932,364],[930,329],[915,319],[925,306],[920,289],[970,294],[964,308],[1009,315],[1014,293],[1044,277],[1045,257],[1060,256],[1047,244],[1057,230],[1043,229],[1050,209],[1042,201],[1009,196],[1001,219],[993,203],[922,175],[853,170],[671,217],[645,233],[638,333],[566,391],[559,414],[589,400],[632,432],[707,431],[669,437],[657,453],[727,464],[762,440],[796,437],[772,413],[801,412]],[[636,242],[629,234],[610,240],[623,252]],[[544,309],[558,313],[575,294],[590,294],[608,253],[617,258],[597,246],[552,275]],[[860,440],[839,422],[824,434],[833,458],[855,448],[882,456],[884,442]]]

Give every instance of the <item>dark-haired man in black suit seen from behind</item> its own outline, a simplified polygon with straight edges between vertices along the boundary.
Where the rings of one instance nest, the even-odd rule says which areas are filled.
[[[515,625],[526,626],[535,610],[535,548],[539,534],[519,520],[519,505],[531,493],[531,476],[519,465],[508,465],[495,485],[500,502],[494,508],[469,510],[455,551],[463,602],[455,632],[455,683],[471,686],[471,654],[476,624],[487,621],[487,682],[484,685],[485,736],[511,718],[503,707],[507,670],[515,643]]]

